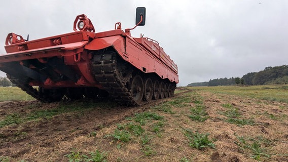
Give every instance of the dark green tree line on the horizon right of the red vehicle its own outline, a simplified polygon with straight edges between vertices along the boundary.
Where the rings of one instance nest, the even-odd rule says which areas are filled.
[[[216,78],[209,82],[191,83],[187,86],[228,86],[228,85],[281,85],[288,84],[288,65],[265,67],[259,72],[249,72],[240,77]]]

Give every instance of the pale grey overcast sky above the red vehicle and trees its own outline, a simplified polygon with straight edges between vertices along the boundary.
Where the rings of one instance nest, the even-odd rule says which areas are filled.
[[[0,54],[8,33],[32,40],[72,32],[80,14],[96,32],[112,30],[116,22],[131,28],[136,7],[146,7],[146,25],[132,36],[160,43],[178,65],[178,86],[288,64],[287,0],[3,1]]]

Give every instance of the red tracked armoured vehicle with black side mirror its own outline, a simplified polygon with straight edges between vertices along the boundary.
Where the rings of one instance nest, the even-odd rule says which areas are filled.
[[[145,25],[145,14],[136,9],[135,27]],[[10,33],[0,70],[43,102],[110,96],[121,105],[139,105],[173,96],[177,65],[157,41],[132,37],[134,28],[123,31],[117,22],[114,30],[95,32],[83,14],[74,21],[75,32],[33,41]]]

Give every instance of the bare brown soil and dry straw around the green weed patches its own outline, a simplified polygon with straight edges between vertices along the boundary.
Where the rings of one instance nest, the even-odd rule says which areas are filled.
[[[262,137],[270,142],[269,147],[265,147],[269,157],[261,156],[260,161],[288,161],[288,120],[285,117],[288,116],[288,104],[199,91],[196,93],[202,96],[209,115],[204,122],[193,121],[188,117],[190,108],[195,106],[193,95],[188,105],[173,106],[174,113],[151,109],[152,106],[191,93],[191,90],[185,89],[177,91],[181,93],[175,94],[173,98],[139,107],[97,106],[84,112],[63,112],[51,118],[5,126],[0,128],[0,157],[10,161],[68,161],[65,155],[70,151],[89,154],[98,149],[108,152],[108,161],[180,161],[184,157],[190,161],[257,161],[250,157],[248,149],[237,145],[237,137]],[[7,114],[27,115],[33,111],[53,109],[59,104],[39,101],[0,102],[0,120]],[[252,117],[256,124],[237,126],[225,122],[225,116],[219,113],[227,110],[223,104],[238,108],[243,116]],[[120,149],[116,147],[117,141],[103,138],[113,133],[118,123],[127,123],[127,117],[144,111],[156,111],[165,119],[161,134],[155,134],[150,142],[152,154],[143,154],[143,146],[137,142],[137,137],[123,144]],[[271,114],[277,119],[272,119]],[[185,128],[209,133],[216,148],[198,150],[189,147],[188,139],[183,134]],[[91,137],[91,132],[96,132],[96,135]]]

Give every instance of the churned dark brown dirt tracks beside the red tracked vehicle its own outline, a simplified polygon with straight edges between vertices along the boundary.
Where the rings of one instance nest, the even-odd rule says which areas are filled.
[[[175,96],[177,95],[175,94]],[[83,135],[89,136],[92,131],[116,124],[128,116],[143,112],[150,106],[169,99],[153,101],[136,107],[95,107],[85,110],[85,114],[79,114],[78,111],[61,113],[49,119],[44,118],[40,121],[27,121],[19,125],[5,126],[0,128],[0,155],[20,157],[34,147],[46,147],[48,151],[52,151],[60,141],[70,141]],[[32,108],[27,108],[29,106]],[[4,116],[17,113],[21,116],[35,110],[51,109],[56,106],[57,103],[41,103],[40,101],[0,102],[0,114]],[[3,120],[3,118],[0,119]]]

